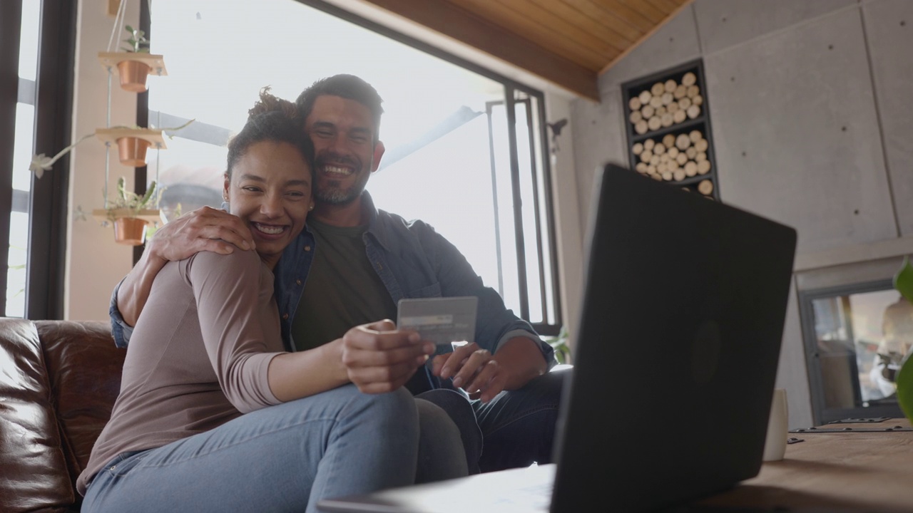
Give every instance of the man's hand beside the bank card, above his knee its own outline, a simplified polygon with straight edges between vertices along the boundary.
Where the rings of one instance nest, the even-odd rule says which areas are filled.
[[[449,354],[439,354],[431,363],[433,374],[444,379],[452,377],[454,386],[483,403],[494,399],[507,384],[507,372],[476,342],[459,346]]]

